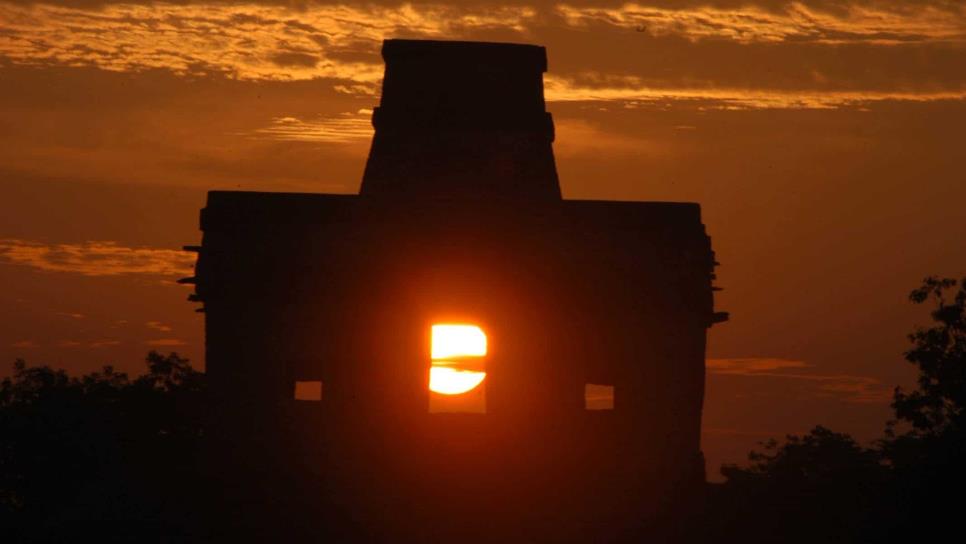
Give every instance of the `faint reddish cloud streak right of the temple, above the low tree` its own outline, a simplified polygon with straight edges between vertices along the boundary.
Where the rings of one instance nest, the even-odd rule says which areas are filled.
[[[708,359],[709,374],[796,380],[811,384],[812,397],[834,397],[847,402],[886,403],[892,398],[890,388],[869,376],[849,374],[816,374],[801,372],[811,368],[804,361],[776,358]],[[795,372],[788,372],[795,369]]]

